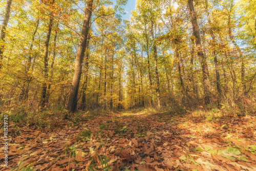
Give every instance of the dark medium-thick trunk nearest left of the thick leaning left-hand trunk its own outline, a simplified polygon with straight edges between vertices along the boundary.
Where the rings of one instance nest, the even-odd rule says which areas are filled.
[[[54,3],[54,1],[53,1]],[[50,16],[50,22],[48,25],[48,31],[45,41],[45,52],[44,52],[44,82],[42,83],[42,96],[40,101],[40,106],[45,106],[46,103],[48,103],[47,99],[47,82],[48,82],[48,47],[49,47],[49,41],[51,37],[52,32],[52,25],[53,25],[53,15]]]

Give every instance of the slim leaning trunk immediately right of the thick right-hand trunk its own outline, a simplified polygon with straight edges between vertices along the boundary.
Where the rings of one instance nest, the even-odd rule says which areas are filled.
[[[215,40],[215,35],[214,32],[212,31],[212,24],[208,12],[208,1],[205,1],[206,4],[206,15],[208,19],[208,23],[210,25],[210,36],[212,40],[212,53],[214,55],[214,63],[215,63],[215,72],[216,72],[216,84],[217,84],[217,91],[218,91],[218,105],[219,105],[219,96],[221,95],[221,88],[220,88],[220,73],[219,73],[219,64],[218,64],[218,58],[217,58],[217,53],[216,53],[216,40]]]

